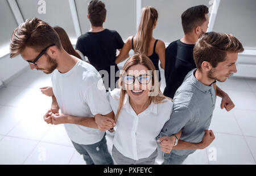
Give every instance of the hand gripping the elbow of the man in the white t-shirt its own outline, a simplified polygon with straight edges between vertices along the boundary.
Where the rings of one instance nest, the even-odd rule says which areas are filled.
[[[100,114],[96,114],[94,117],[100,131],[110,130],[110,128],[114,128],[115,126],[115,121],[112,118]]]

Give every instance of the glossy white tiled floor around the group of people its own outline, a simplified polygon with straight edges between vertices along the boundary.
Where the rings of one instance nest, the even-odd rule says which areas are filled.
[[[39,88],[49,85],[50,75],[27,70],[0,89],[0,164],[85,164],[63,125],[43,121],[51,98]],[[229,112],[222,110],[217,98],[210,125],[216,139],[208,148],[191,154],[184,164],[255,164],[256,80],[230,78],[218,85],[236,106]],[[109,151],[110,139],[107,136]]]

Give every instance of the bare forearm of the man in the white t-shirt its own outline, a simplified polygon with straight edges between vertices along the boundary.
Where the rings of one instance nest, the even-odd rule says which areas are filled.
[[[89,128],[98,128],[94,117],[76,117],[73,115],[67,115],[67,123],[81,125]]]

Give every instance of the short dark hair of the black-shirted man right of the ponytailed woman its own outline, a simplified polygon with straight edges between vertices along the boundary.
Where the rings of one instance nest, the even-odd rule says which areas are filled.
[[[208,7],[205,5],[190,7],[181,15],[181,23],[185,34],[192,32],[194,28],[202,25],[207,19]]]

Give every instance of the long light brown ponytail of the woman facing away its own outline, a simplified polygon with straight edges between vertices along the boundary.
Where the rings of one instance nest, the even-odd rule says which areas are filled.
[[[147,6],[142,8],[141,21],[134,38],[135,53],[147,55],[156,20],[158,20],[158,11],[154,7]]]

